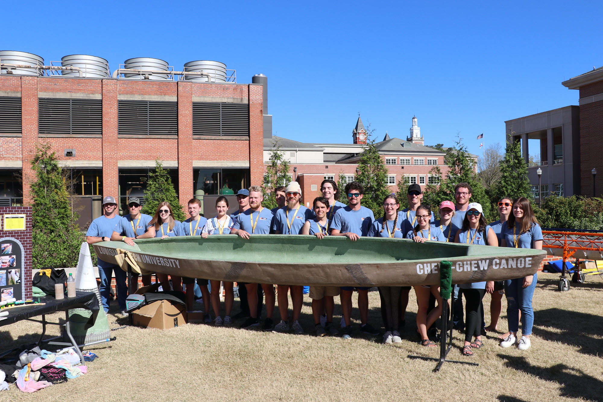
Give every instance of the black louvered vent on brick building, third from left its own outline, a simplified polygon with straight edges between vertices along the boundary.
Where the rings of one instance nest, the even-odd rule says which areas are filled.
[[[178,103],[118,101],[119,134],[178,134]]]

